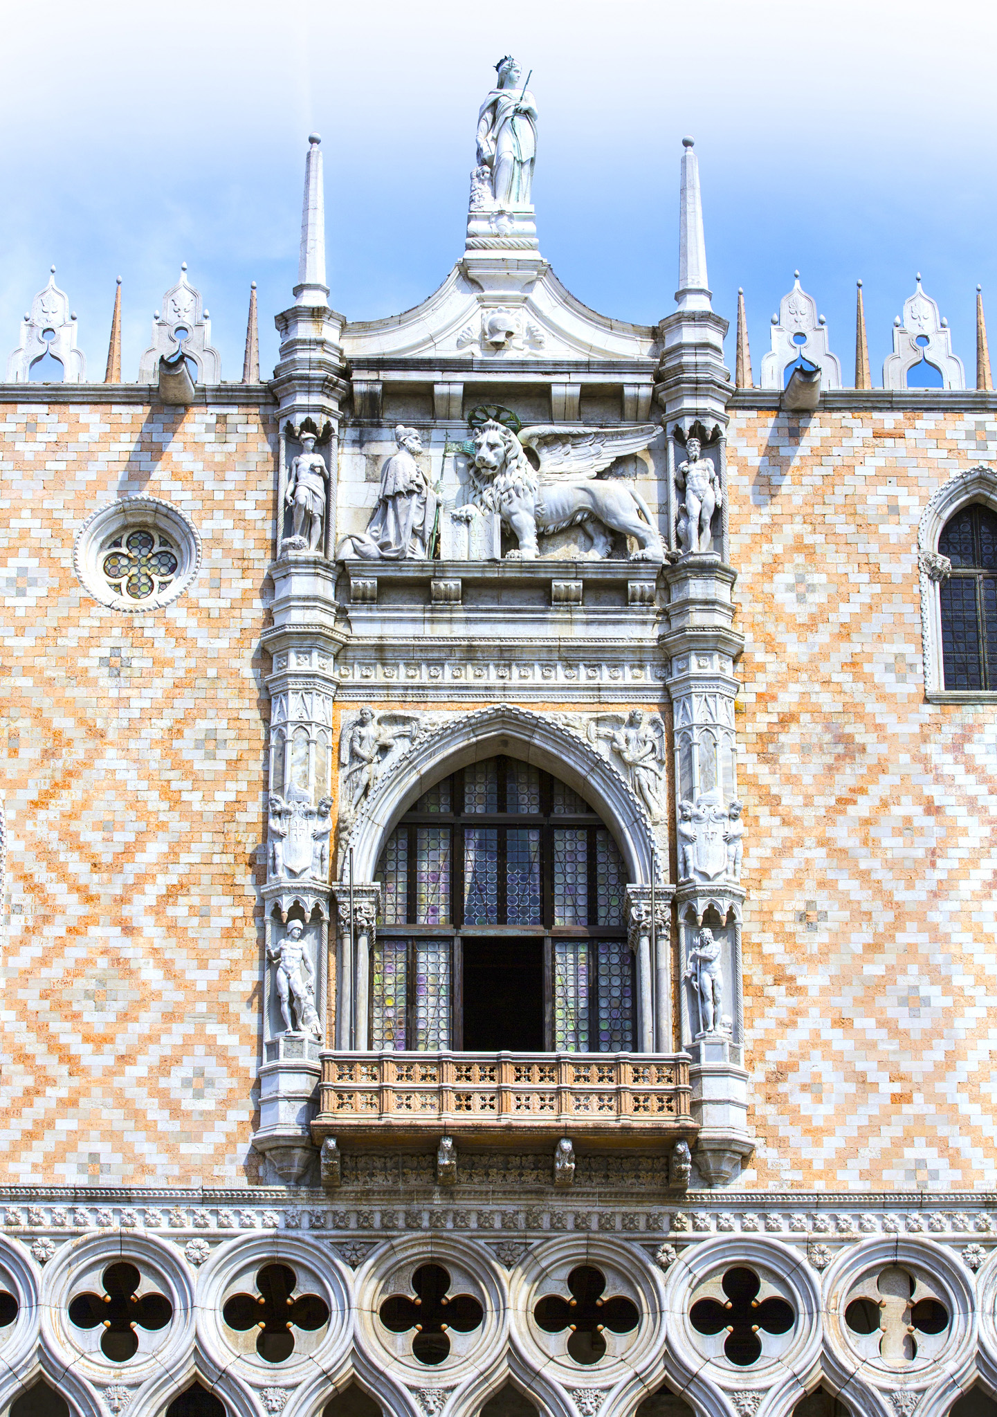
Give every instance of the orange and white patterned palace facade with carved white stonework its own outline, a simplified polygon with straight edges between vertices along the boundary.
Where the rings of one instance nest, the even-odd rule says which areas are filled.
[[[939,536],[997,402],[921,281],[884,388],[799,281],[735,387],[691,140],[676,310],[589,310],[497,75],[415,310],[330,306],[313,135],[270,380],[186,273],[137,383],[54,282],[11,354],[4,1417],[991,1410],[997,693],[945,686]],[[496,758],[612,837],[629,1047],[371,1046],[385,843]]]

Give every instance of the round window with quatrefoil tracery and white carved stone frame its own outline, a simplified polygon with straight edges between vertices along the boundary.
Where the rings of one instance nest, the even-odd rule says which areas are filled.
[[[188,517],[169,502],[126,497],[84,523],[74,564],[84,588],[102,605],[159,609],[197,575],[201,538]]]

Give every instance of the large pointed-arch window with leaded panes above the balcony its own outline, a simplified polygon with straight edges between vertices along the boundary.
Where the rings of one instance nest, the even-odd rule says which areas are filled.
[[[489,758],[406,812],[378,863],[372,1049],[633,1047],[626,873],[592,808]]]

